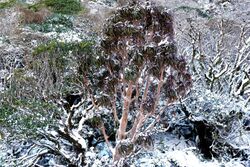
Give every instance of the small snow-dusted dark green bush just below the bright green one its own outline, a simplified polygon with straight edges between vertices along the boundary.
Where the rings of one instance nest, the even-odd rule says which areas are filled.
[[[65,32],[73,28],[72,18],[62,14],[54,14],[42,24],[30,24],[33,30],[44,33]]]

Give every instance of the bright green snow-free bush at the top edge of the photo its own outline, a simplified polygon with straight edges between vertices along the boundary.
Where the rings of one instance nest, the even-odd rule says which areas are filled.
[[[51,7],[55,13],[77,14],[82,10],[78,0],[45,0],[44,4]]]

